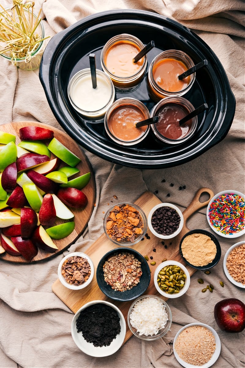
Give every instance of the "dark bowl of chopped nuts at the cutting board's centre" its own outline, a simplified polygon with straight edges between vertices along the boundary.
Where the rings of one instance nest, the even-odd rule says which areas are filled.
[[[115,248],[101,258],[96,278],[106,296],[129,301],[144,294],[151,280],[151,271],[143,255],[136,250]]]

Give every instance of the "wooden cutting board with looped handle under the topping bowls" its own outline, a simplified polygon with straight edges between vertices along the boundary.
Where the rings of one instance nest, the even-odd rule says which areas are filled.
[[[203,193],[208,193],[209,199],[205,202],[200,202],[199,199]],[[176,261],[183,263],[183,259],[181,258],[180,253],[179,253],[179,243],[180,243],[181,238],[184,236],[184,234],[186,234],[189,231],[189,229],[186,226],[187,219],[195,211],[208,205],[213,195],[214,195],[213,192],[209,188],[201,188],[197,191],[190,205],[183,212],[183,217],[184,217],[183,229],[175,238],[166,240],[164,242],[164,245],[162,244],[159,238],[156,238],[150,232],[149,229],[147,229],[147,234],[150,238],[147,239],[145,237],[143,241],[140,241],[136,245],[134,245],[133,248],[135,250],[137,250],[143,256],[147,255],[149,258],[148,263],[151,269],[151,281],[149,283],[149,286],[145,294],[158,295],[163,300],[167,300],[167,298],[161,296],[155,289],[154,280],[153,280],[155,268],[159,265],[159,263],[162,262],[162,259],[164,258],[167,258],[169,260],[176,260]],[[140,196],[140,198],[138,198],[137,201],[135,202],[135,204],[137,204],[143,209],[146,216],[148,216],[152,207],[154,207],[155,205],[159,203],[161,203],[160,199],[151,192],[144,192]],[[108,251],[114,248],[117,248],[117,245],[112,243],[112,241],[110,241],[105,234],[102,234],[86,250],[86,254],[91,257],[91,259],[94,262],[94,267],[95,267],[95,273],[94,273],[94,278],[92,282],[85,289],[70,290],[70,289],[67,289],[65,286],[63,286],[60,280],[57,279],[52,286],[52,290],[74,313],[76,313],[78,309],[82,307],[84,304],[92,300],[107,300],[109,302],[114,303],[122,311],[125,321],[126,321],[126,326],[127,326],[126,337],[125,337],[125,342],[126,342],[129,339],[129,337],[132,335],[127,325],[127,313],[128,313],[130,305],[132,304],[132,301],[118,302],[118,301],[111,300],[110,298],[108,298],[102,293],[96,281],[96,269],[97,269],[97,265],[100,259],[105,253],[107,253]],[[155,252],[153,251],[154,248],[156,250]],[[152,260],[150,259],[150,256],[153,256]],[[155,261],[156,265],[152,266],[150,264],[151,261]],[[187,269],[190,273],[190,276],[193,275],[193,273],[196,271],[194,268],[191,268],[189,266],[187,266]]]

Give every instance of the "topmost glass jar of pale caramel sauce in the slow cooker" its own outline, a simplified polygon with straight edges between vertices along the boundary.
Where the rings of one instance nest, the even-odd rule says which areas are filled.
[[[147,56],[137,63],[134,57],[144,48],[143,43],[127,33],[108,40],[101,52],[101,66],[118,88],[131,88],[140,83],[147,67]]]

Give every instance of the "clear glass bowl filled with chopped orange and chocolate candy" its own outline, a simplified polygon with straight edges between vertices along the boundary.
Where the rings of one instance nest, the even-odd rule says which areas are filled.
[[[104,231],[113,243],[128,247],[145,236],[147,218],[139,206],[128,202],[118,203],[105,213]]]

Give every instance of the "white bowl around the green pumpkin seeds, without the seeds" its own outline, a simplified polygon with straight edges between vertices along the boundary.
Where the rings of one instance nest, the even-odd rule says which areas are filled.
[[[163,267],[169,266],[169,265],[179,266],[184,271],[184,273],[186,275],[184,287],[182,289],[180,289],[179,293],[168,294],[168,293],[166,293],[166,291],[163,291],[158,286],[158,282],[157,282],[158,273],[161,271],[161,269]],[[187,268],[184,265],[182,265],[182,263],[174,261],[174,260],[169,260],[169,261],[165,261],[165,262],[160,263],[160,265],[157,266],[157,268],[155,269],[155,272],[154,272],[154,285],[155,285],[155,288],[156,288],[156,290],[158,291],[159,294],[163,295],[166,298],[172,298],[173,299],[173,298],[181,297],[188,290],[188,287],[190,286],[190,281],[191,281],[190,273],[188,272]]]

